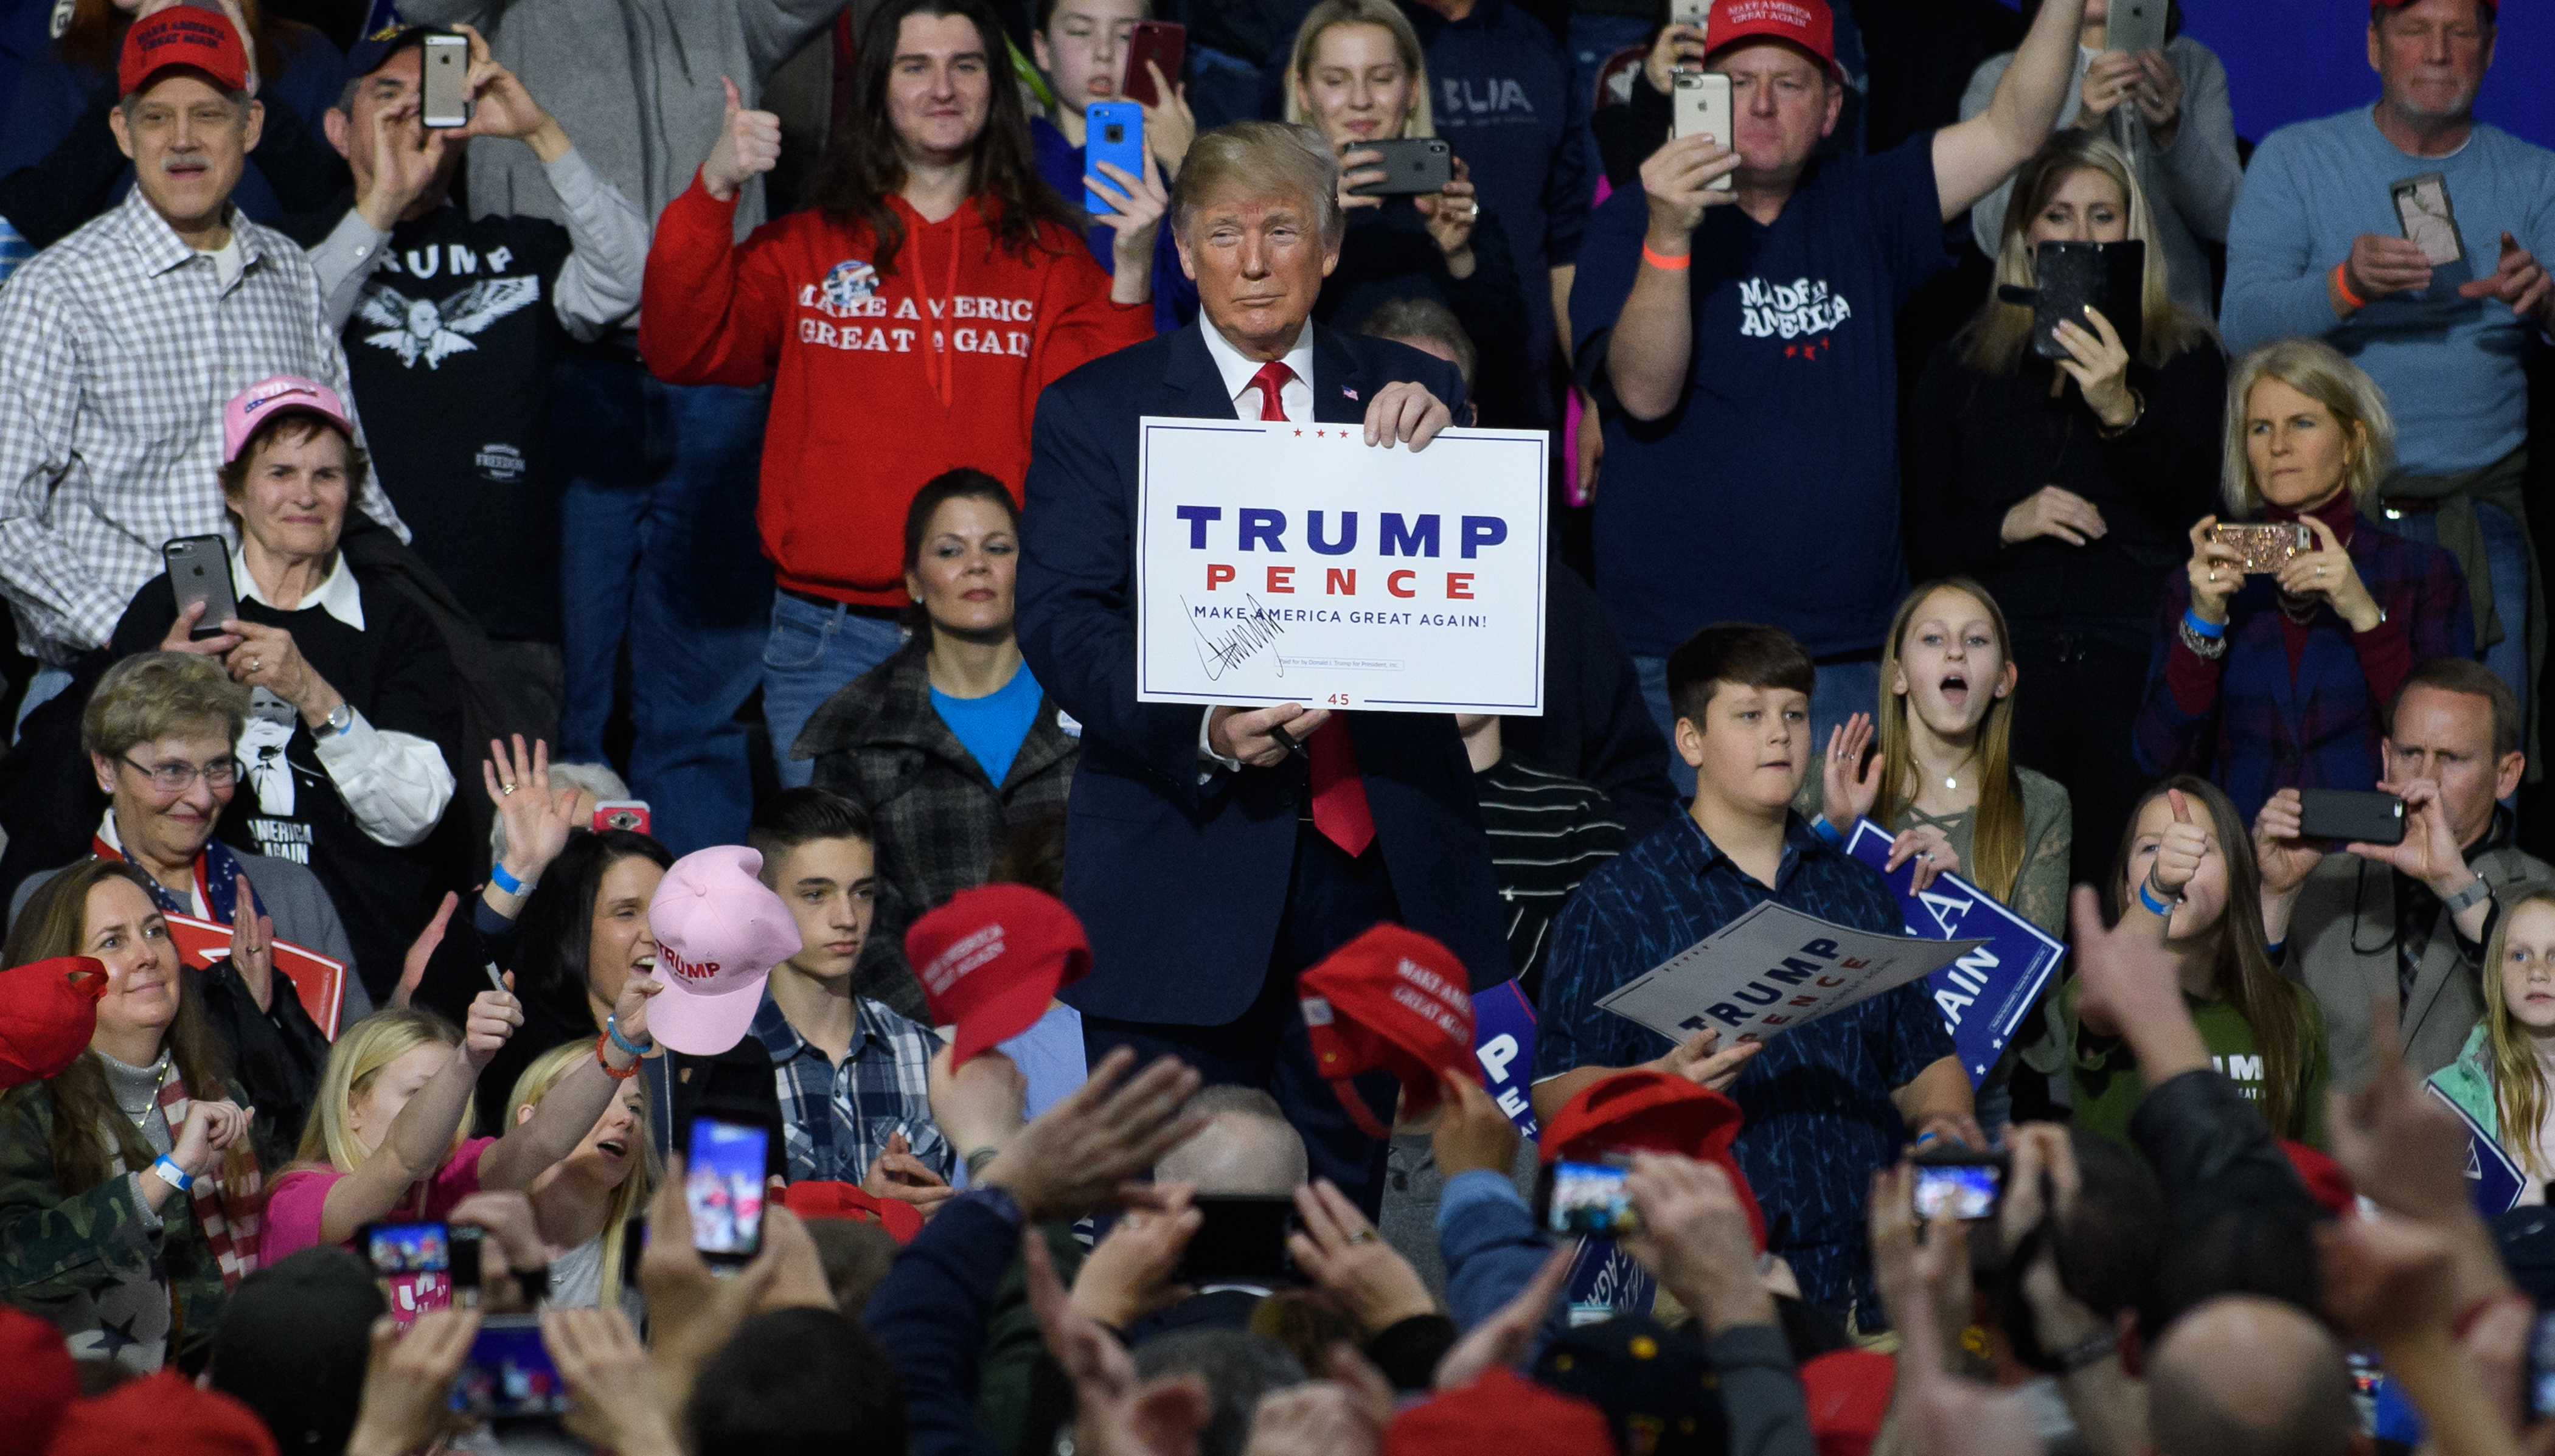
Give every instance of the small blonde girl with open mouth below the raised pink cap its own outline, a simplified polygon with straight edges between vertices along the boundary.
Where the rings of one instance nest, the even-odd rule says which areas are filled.
[[[549,1088],[567,1081],[593,1047],[567,1042],[542,1052],[514,1083],[508,1126],[534,1119]],[[654,1144],[646,1139],[646,1078],[621,1083],[603,1116],[575,1152],[531,1180],[531,1216],[542,1241],[565,1249],[549,1262],[544,1303],[562,1310],[621,1305],[639,1318],[639,1290],[621,1282],[631,1221],[657,1185]]]

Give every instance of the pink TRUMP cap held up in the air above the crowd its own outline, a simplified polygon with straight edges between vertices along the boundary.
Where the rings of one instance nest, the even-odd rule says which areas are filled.
[[[664,994],[646,1009],[659,1042],[715,1058],[746,1040],[764,978],[800,953],[789,907],[761,879],[764,856],[710,846],[675,861],[646,907]]]

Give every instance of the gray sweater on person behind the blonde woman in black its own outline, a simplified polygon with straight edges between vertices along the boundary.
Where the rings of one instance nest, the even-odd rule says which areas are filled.
[[[2077,69],[2067,82],[2059,125],[2075,125],[2077,112],[2085,110],[2085,69],[2093,66],[2093,56],[2077,46]],[[2182,125],[2174,130],[2174,146],[2156,151],[2146,135],[2146,118],[2133,105],[2113,112],[2108,135],[2121,140],[2139,166],[2139,189],[2146,192],[2146,207],[2156,215],[2156,243],[2164,248],[2174,301],[2202,319],[2215,319],[2210,261],[2200,250],[2200,240],[2225,243],[2236,189],[2243,186],[2243,163],[2236,158],[2236,110],[2228,105],[2228,69],[2215,51],[2190,36],[2177,36],[2164,46],[2164,59],[2182,77]],[[1970,95],[1960,97],[1962,120],[1988,110],[1995,82],[2008,64],[2013,64],[2011,54],[1988,56],[1978,66],[1978,74],[1970,77]],[[2008,176],[1970,209],[1970,230],[1978,235],[1978,250],[1988,258],[1995,258],[2011,197],[2013,179]]]

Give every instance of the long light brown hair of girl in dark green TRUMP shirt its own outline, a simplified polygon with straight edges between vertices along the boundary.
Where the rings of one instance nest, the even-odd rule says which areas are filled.
[[[2110,884],[2103,886],[2110,922],[2118,925],[2128,907],[2128,851],[2139,843],[2139,815],[2172,789],[2182,789],[2185,800],[2208,807],[2218,856],[2228,863],[2228,907],[2218,920],[2218,960],[2210,968],[2210,989],[2218,991],[2220,1001],[2236,1006],[2236,1014],[2254,1032],[2254,1050],[2261,1052],[2261,1119],[2279,1137],[2302,1137],[2307,1126],[2307,1106],[2300,1101],[2305,1091],[2300,1081],[2307,1070],[2307,991],[2271,963],[2271,945],[2261,935],[2261,868],[2254,863],[2254,838],[2218,784],[2174,774],[2139,797],[2128,825],[2121,828],[2121,853],[2113,858]]]

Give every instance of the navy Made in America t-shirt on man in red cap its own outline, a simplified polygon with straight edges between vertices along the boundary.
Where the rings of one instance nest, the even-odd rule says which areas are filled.
[[[1579,248],[1571,332],[1599,391],[1648,227],[1635,181]],[[1605,421],[1597,595],[1625,646],[1666,656],[1714,621],[1781,626],[1814,656],[1880,644],[1909,585],[1896,319],[1947,263],[1934,133],[1811,163],[1773,227],[1704,215],[1686,398]]]

